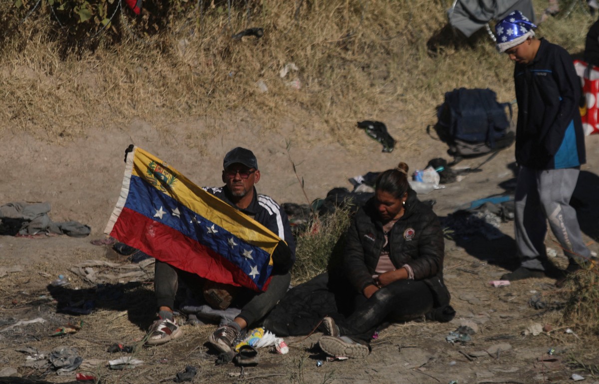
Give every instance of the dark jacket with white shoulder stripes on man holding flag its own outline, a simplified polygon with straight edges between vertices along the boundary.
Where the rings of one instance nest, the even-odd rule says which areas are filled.
[[[231,202],[229,190],[226,187],[204,187],[205,191],[223,200],[238,211],[252,217],[253,220],[264,225],[274,234],[279,236],[285,243],[279,242],[273,252],[273,273],[284,274],[291,269],[295,263],[295,240],[291,234],[289,218],[283,209],[270,197],[258,194],[254,188],[254,197],[246,209],[240,209]]]

